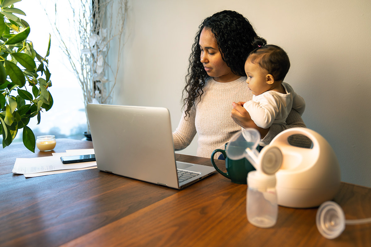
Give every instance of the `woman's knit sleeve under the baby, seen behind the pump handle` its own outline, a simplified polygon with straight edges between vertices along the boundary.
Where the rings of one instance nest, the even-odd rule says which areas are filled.
[[[300,117],[298,111],[292,109],[289,115],[287,116],[286,125],[272,124],[272,126],[270,126],[268,134],[266,134],[266,136],[260,141],[260,145],[269,144],[273,140],[273,138],[277,136],[280,132],[287,130],[288,128],[294,128],[294,127],[306,128],[305,123]],[[297,147],[310,148],[312,146],[312,141],[308,137],[303,136],[301,134],[295,134],[295,135],[290,136],[288,138],[288,142],[292,146],[297,146]]]

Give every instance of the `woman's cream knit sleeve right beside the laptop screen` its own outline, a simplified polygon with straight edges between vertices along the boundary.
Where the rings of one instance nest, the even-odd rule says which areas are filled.
[[[175,151],[182,150],[191,143],[194,136],[196,135],[196,126],[194,120],[196,117],[196,110],[192,107],[191,111],[184,117],[185,113],[180,119],[179,125],[176,130],[173,132],[173,141]]]

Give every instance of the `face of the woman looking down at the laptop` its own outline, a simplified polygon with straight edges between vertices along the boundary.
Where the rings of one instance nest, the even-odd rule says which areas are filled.
[[[230,67],[223,61],[217,41],[210,29],[203,29],[200,35],[201,63],[206,73],[218,82],[230,82],[240,76],[232,73]]]

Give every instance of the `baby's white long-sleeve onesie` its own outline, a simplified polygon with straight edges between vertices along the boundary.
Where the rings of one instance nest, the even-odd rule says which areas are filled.
[[[254,95],[253,99],[244,103],[254,123],[261,128],[269,128],[272,124],[286,124],[286,118],[295,109],[302,116],[305,110],[304,99],[295,93],[292,87],[282,82],[286,94],[266,91]]]

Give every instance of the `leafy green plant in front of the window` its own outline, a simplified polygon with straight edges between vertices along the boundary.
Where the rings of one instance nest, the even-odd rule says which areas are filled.
[[[27,40],[29,24],[17,17],[26,15],[14,8],[13,4],[19,1],[0,0],[0,134],[4,148],[23,128],[23,144],[35,152],[35,135],[27,124],[35,116],[39,124],[42,110],[48,111],[53,105],[48,90],[52,82],[46,59],[49,56],[50,35],[46,56],[42,57]]]

